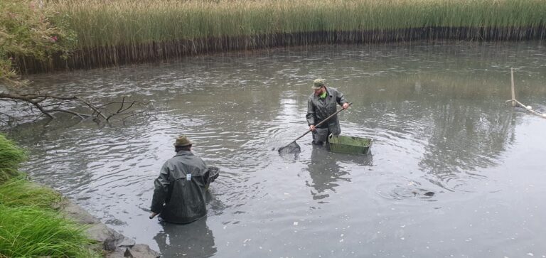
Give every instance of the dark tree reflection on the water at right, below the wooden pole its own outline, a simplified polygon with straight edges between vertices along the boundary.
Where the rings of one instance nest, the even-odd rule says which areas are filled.
[[[419,167],[432,183],[447,190],[476,191],[473,180],[486,180],[479,168],[498,165],[498,156],[514,141],[513,113],[501,107],[439,104],[431,117],[428,144]]]

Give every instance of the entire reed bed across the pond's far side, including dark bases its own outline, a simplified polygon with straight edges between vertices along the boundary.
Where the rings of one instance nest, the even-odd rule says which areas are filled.
[[[523,41],[546,36],[543,0],[56,0],[78,49],[53,65],[328,43]]]

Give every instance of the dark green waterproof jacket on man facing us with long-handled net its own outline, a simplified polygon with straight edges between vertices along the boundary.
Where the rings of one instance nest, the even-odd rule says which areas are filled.
[[[326,117],[330,116],[333,113],[336,113],[338,107],[337,104],[343,105],[347,100],[343,97],[343,93],[334,89],[333,87],[326,87],[326,98],[321,99],[321,97],[316,96],[312,93],[309,96],[307,101],[307,114],[306,119],[309,125],[319,124]],[[339,126],[338,116],[335,115],[324,124],[321,124],[319,128],[328,128],[330,129],[331,134],[338,135],[341,134],[341,127]]]

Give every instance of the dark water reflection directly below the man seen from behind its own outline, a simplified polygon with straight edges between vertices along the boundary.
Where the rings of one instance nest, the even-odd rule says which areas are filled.
[[[161,222],[161,227],[154,237],[161,257],[212,257],[217,252],[207,217],[185,225]]]

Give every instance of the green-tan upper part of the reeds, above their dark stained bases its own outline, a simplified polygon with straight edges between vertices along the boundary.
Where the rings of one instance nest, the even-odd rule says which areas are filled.
[[[80,48],[316,31],[543,26],[542,0],[61,0]]]

